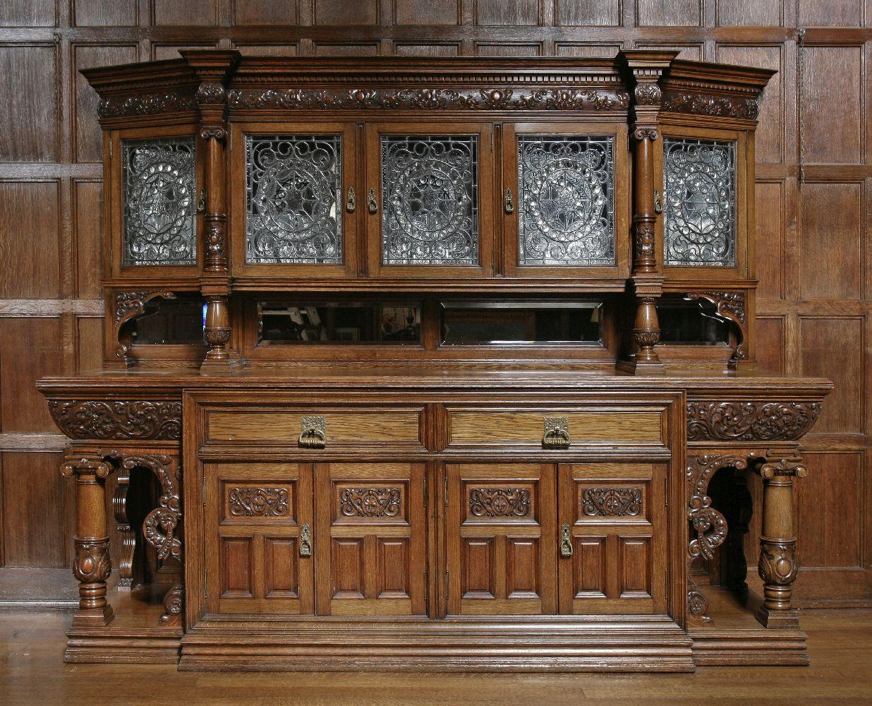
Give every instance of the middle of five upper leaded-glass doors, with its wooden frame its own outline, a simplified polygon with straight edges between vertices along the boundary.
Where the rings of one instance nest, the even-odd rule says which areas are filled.
[[[491,274],[493,152],[489,125],[367,126],[364,205],[371,276]]]

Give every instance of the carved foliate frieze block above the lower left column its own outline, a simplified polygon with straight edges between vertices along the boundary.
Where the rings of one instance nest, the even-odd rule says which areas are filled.
[[[51,400],[49,411],[71,439],[181,439],[181,402]]]

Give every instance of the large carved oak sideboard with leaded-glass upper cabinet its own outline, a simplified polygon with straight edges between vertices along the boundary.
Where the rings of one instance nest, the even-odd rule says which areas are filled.
[[[793,484],[830,383],[755,362],[770,72],[182,55],[84,72],[105,366],[39,383],[68,661],[807,663]]]

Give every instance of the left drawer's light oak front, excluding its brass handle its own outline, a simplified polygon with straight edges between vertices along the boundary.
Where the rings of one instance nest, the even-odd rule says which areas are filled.
[[[275,442],[303,446],[304,419],[324,420],[324,446],[413,446],[423,448],[424,408],[246,408],[211,410],[206,429],[210,442]],[[306,422],[307,426],[310,426]]]

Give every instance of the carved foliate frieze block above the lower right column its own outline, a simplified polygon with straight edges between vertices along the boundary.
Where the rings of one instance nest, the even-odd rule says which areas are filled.
[[[691,442],[790,442],[821,414],[820,402],[693,401],[687,403]]]

